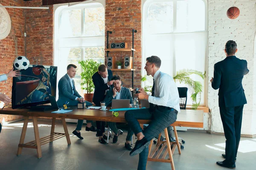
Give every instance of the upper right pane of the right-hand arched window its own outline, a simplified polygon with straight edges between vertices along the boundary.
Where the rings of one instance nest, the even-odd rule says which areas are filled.
[[[202,0],[177,1],[176,32],[205,30],[205,5]]]

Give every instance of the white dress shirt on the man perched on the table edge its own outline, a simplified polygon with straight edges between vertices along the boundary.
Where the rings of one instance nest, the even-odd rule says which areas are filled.
[[[159,70],[154,74],[153,79],[155,80],[154,96],[148,96],[148,102],[174,108],[180,112],[180,97],[174,79]]]

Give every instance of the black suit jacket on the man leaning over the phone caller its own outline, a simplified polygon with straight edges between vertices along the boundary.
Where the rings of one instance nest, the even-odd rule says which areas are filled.
[[[108,81],[112,78],[112,71],[108,70]],[[93,84],[95,86],[94,94],[93,94],[93,103],[98,106],[100,102],[104,101],[105,91],[111,89],[111,86],[108,87],[107,83],[104,83],[104,80],[100,76],[98,72],[93,74]]]

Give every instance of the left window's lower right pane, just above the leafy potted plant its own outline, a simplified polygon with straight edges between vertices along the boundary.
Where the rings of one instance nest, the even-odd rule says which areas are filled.
[[[88,47],[84,48],[84,60],[93,59],[99,63],[105,63],[104,47]]]

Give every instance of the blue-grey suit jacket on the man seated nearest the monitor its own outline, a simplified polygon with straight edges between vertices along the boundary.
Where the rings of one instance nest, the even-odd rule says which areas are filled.
[[[76,97],[82,97],[77,91],[75,82],[74,84],[74,95],[72,91],[72,85],[69,79],[69,76],[65,74],[63,77],[61,77],[60,81],[58,82],[58,106],[62,107],[63,104],[66,102],[69,102],[69,105],[77,105],[78,101],[76,100]],[[86,105],[92,105],[90,102],[86,102]]]

